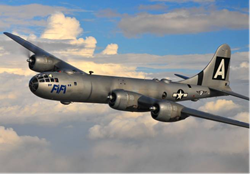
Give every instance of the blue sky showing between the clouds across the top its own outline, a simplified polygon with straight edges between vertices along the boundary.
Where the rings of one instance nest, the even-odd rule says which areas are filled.
[[[2,4],[14,6],[34,3],[33,1],[10,1]],[[213,1],[205,3],[185,2],[161,2],[161,1],[36,1],[38,4],[48,6],[61,6],[75,9],[68,16],[77,18],[81,23],[84,32],[80,36],[94,36],[97,39],[97,47],[104,48],[108,43],[117,43],[119,53],[148,53],[155,55],[183,55],[183,54],[204,54],[212,53],[221,44],[227,43],[231,48],[247,50],[248,30],[247,28],[231,29],[222,28],[209,32],[184,33],[184,34],[155,34],[142,33],[127,37],[119,28],[121,17],[100,17],[98,14],[110,9],[117,14],[136,15],[138,13],[164,14],[176,9],[204,8],[207,10],[223,10],[247,14],[247,0],[242,1]],[[165,8],[160,10],[140,9],[140,6],[161,5]],[[81,12],[84,10],[84,12]],[[86,11],[85,11],[86,10]],[[46,18],[46,17],[45,17]],[[245,21],[246,23],[248,21]],[[14,28],[14,26],[12,26]],[[11,31],[11,28],[6,28]],[[133,26],[131,26],[133,27]],[[41,30],[34,28],[36,34]],[[79,36],[79,37],[80,37]],[[101,50],[96,50],[98,53]]]

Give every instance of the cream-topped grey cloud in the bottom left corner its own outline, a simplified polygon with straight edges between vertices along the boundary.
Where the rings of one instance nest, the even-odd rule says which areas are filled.
[[[0,172],[63,171],[70,163],[51,151],[46,139],[19,136],[12,128],[0,127]]]

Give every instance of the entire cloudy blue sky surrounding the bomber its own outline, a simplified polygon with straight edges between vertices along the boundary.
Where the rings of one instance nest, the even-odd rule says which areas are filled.
[[[10,32],[88,72],[134,78],[193,76],[216,49],[232,50],[231,88],[249,96],[249,1],[0,2],[0,172],[249,173],[249,130],[189,117],[175,123],[108,105],[36,97],[36,73]],[[231,96],[184,106],[249,122]]]

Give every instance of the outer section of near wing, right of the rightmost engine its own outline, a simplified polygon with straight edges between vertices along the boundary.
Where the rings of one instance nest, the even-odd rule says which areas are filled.
[[[217,122],[221,122],[221,123],[231,124],[231,125],[240,126],[240,127],[250,129],[250,124],[248,124],[248,123],[244,123],[244,122],[240,122],[237,120],[209,114],[209,113],[198,111],[198,110],[191,109],[191,108],[184,107],[181,112],[183,114],[187,114],[187,115],[191,115],[191,116],[195,116],[195,117],[199,117],[199,118],[204,118],[207,120],[217,121]]]

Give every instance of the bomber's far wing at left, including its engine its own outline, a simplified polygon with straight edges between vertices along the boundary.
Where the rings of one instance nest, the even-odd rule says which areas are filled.
[[[82,70],[60,60],[59,58],[53,56],[52,54],[44,51],[38,46],[24,40],[23,38],[16,36],[14,34],[4,32],[6,36],[13,39],[29,51],[33,52],[34,55],[28,59],[29,67],[33,71],[45,72],[45,71],[66,71],[66,72],[79,72],[84,73]]]

